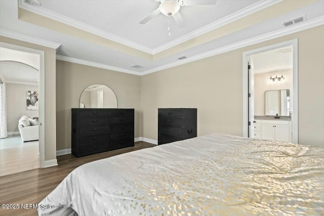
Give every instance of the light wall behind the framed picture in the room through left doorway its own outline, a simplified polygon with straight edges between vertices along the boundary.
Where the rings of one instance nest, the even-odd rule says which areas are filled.
[[[18,121],[22,115],[38,117],[38,110],[26,109],[26,92],[38,91],[38,85],[6,82],[7,131],[18,132]]]

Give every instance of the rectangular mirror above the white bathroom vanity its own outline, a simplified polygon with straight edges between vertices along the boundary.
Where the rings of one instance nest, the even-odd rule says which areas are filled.
[[[265,91],[265,115],[289,116],[289,89]]]

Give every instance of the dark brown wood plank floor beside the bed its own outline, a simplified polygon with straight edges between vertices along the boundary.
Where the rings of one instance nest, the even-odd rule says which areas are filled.
[[[58,166],[38,168],[0,177],[0,204],[37,204],[42,201],[76,167],[103,158],[155,145],[136,142],[134,147],[76,158],[72,154],[57,156]],[[0,215],[37,215],[36,209],[2,209]]]

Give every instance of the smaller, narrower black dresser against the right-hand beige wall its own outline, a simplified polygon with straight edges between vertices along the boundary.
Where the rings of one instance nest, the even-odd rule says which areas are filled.
[[[157,144],[197,136],[196,108],[158,108]]]

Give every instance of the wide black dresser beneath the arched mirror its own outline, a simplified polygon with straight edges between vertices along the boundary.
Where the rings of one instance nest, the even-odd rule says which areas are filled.
[[[134,146],[134,109],[72,109],[72,154],[76,157],[130,146]]]

